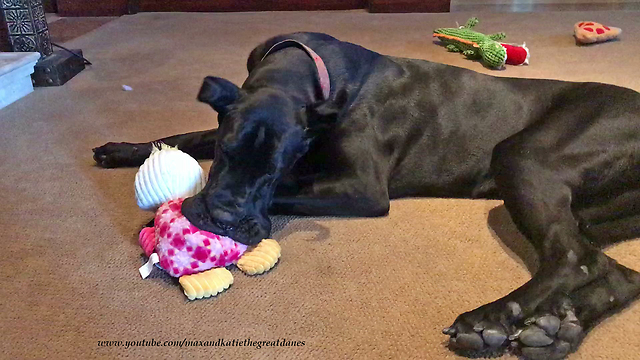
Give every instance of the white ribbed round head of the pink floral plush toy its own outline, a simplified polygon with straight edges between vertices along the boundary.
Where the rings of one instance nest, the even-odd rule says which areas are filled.
[[[136,201],[141,209],[155,211],[169,200],[197,194],[205,183],[204,170],[196,159],[178,148],[154,144],[151,156],[136,174]]]

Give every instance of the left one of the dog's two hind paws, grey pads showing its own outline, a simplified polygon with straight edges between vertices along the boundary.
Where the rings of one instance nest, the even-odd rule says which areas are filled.
[[[516,333],[515,323],[523,316],[520,305],[495,302],[464,313],[450,327],[449,347],[456,353],[471,357],[501,356],[510,344],[509,336]]]

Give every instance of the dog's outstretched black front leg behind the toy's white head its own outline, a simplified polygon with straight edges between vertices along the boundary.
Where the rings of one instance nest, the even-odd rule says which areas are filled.
[[[148,143],[109,142],[93,149],[93,159],[104,168],[140,166],[151,154],[154,142],[163,142],[186,152],[198,160],[213,159],[216,130],[174,135]]]

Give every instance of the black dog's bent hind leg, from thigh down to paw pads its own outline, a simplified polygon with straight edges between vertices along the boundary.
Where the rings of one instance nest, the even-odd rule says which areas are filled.
[[[589,325],[583,319],[595,323],[592,318],[603,316],[602,309],[621,308],[616,297],[629,300],[637,294],[640,275],[594,246],[574,215],[576,195],[586,187],[606,191],[640,179],[640,131],[628,111],[633,102],[621,96],[617,100],[626,107],[615,106],[601,96],[602,89],[591,89],[595,94],[572,92],[559,99],[562,106],[545,119],[495,147],[496,185],[544,266],[507,296],[460,315],[445,329],[454,350],[483,356],[517,345],[527,358],[560,359],[582,341]],[[595,103],[572,106],[573,96]],[[617,295],[613,305],[603,304],[602,296],[576,304],[572,295],[582,288]]]

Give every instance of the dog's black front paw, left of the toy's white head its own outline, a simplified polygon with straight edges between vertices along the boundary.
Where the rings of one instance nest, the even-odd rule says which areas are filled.
[[[104,168],[140,166],[150,154],[149,144],[109,142],[93,149],[93,159]]]

